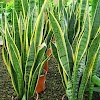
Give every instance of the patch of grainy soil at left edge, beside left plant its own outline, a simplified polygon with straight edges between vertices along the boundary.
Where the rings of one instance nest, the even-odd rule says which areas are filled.
[[[0,46],[0,100],[11,100],[14,90],[10,81],[9,73],[4,65]]]

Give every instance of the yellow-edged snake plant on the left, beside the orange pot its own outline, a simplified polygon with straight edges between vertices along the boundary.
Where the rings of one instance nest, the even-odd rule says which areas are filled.
[[[18,1],[18,2],[17,2]],[[2,55],[14,90],[21,100],[29,100],[35,94],[45,57],[48,34],[44,40],[44,10],[47,0],[42,2],[39,13],[34,0],[14,0],[12,24],[4,21]],[[50,40],[50,39],[49,39]]]

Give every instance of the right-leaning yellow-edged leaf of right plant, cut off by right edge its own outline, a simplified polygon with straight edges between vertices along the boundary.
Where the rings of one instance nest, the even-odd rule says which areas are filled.
[[[81,85],[80,85],[79,93],[78,93],[78,100],[83,99],[84,90],[85,90],[88,78],[90,74],[92,73],[99,50],[100,50],[100,34],[94,38],[88,50],[88,60],[86,62],[86,67],[82,76]]]

